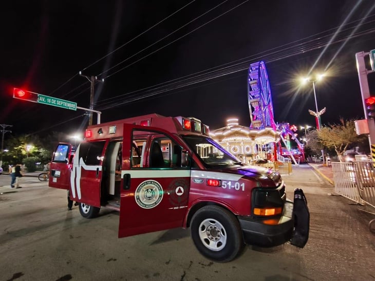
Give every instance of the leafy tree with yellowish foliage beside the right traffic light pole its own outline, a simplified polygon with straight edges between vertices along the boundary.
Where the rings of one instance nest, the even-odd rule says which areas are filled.
[[[340,119],[340,124],[322,127],[317,131],[317,135],[322,144],[328,148],[334,148],[340,162],[343,162],[344,153],[350,144],[364,140],[364,136],[358,136],[355,133],[354,121],[344,121],[343,118]]]

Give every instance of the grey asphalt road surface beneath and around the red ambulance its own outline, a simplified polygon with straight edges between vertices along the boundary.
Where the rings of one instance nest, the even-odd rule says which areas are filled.
[[[66,191],[32,177],[12,190],[9,180],[0,176],[0,280],[375,280],[374,217],[328,195],[333,186],[308,165],[284,176],[289,197],[294,188],[307,196],[306,247],[249,246],[227,264],[201,256],[190,230],[119,239],[118,213],[85,219],[67,211]]]

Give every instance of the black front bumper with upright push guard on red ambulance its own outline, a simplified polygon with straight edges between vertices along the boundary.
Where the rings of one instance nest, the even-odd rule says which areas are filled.
[[[274,247],[288,241],[303,248],[309,238],[310,213],[306,197],[301,189],[294,191],[294,202],[286,201],[283,215],[276,224],[267,224],[265,219],[238,217],[243,239],[249,245]]]

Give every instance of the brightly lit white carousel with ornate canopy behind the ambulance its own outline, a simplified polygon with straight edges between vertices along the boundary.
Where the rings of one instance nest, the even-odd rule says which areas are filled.
[[[238,125],[238,119],[234,118],[227,120],[227,126],[210,132],[222,147],[249,164],[258,159],[275,161],[274,147],[280,141],[280,134],[271,127],[254,129]]]

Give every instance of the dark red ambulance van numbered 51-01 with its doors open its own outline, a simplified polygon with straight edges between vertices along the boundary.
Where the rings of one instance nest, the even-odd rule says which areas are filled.
[[[85,218],[120,212],[119,237],[191,228],[199,252],[234,259],[245,243],[304,247],[302,190],[287,200],[277,172],[242,164],[195,118],[150,114],[88,126],[77,149],[59,143],[49,186],[70,190]]]

